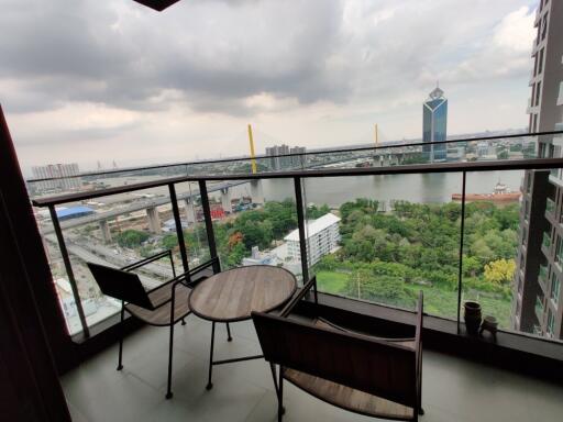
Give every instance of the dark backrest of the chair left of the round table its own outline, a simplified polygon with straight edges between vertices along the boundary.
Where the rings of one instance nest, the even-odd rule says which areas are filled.
[[[136,274],[93,263],[88,263],[88,268],[103,295],[144,309],[155,309]]]

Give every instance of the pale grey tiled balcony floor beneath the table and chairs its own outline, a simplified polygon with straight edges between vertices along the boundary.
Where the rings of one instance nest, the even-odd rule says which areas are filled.
[[[117,346],[63,378],[76,422],[275,421],[276,397],[269,366],[250,360],[216,366],[206,390],[211,324],[190,315],[176,326],[174,398],[164,398],[167,329],[146,327],[125,338],[124,369],[115,370]],[[227,342],[218,325],[216,359],[260,353],[252,322],[231,325]],[[423,422],[549,422],[563,420],[563,387],[455,357],[426,352]],[[373,421],[284,385],[285,421]]]

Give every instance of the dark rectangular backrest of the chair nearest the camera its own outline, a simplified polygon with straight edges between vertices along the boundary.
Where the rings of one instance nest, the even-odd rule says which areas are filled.
[[[417,408],[413,348],[253,312],[266,360]]]

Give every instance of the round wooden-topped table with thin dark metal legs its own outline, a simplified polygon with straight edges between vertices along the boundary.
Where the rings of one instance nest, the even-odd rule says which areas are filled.
[[[269,312],[287,302],[296,290],[297,279],[291,273],[268,265],[229,269],[196,286],[189,295],[189,308],[199,318],[212,322],[208,390],[213,387],[213,365],[263,357],[257,355],[213,362],[216,323],[227,323],[228,340],[231,341],[230,322],[250,320],[252,311]]]

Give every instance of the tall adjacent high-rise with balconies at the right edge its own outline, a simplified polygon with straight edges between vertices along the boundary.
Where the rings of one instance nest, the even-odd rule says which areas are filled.
[[[530,133],[563,130],[563,1],[540,0],[532,46],[533,68],[528,103]],[[540,157],[562,156],[562,135],[538,138]],[[527,171],[518,265],[515,274],[512,327],[563,338],[563,176]]]

